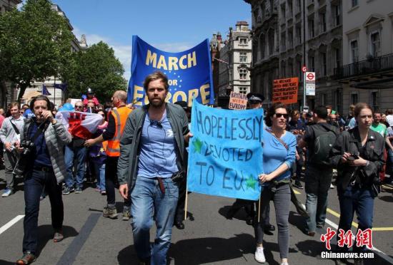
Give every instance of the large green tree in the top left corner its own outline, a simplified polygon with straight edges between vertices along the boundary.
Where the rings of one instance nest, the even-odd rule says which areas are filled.
[[[27,0],[21,11],[0,16],[0,80],[19,85],[18,99],[34,80],[59,78],[71,68],[69,21],[49,0]]]

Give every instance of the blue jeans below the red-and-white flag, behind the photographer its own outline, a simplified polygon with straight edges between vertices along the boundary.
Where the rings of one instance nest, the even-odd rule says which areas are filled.
[[[72,147],[66,145],[66,151],[64,153],[64,160],[66,161],[67,174],[65,182],[67,187],[83,187],[84,172],[86,171],[86,154],[87,150],[85,147]],[[74,180],[74,159],[76,159],[76,180]]]

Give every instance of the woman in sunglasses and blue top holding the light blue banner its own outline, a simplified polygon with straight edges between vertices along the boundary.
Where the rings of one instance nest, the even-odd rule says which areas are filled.
[[[266,125],[263,135],[264,148],[264,172],[259,175],[259,181],[263,187],[260,207],[262,219],[256,222],[255,237],[257,239],[257,250],[255,259],[264,263],[264,219],[270,200],[274,202],[276,220],[278,227],[278,243],[281,257],[281,264],[288,264],[289,251],[289,205],[291,203],[291,182],[290,167],[294,163],[296,154],[296,137],[285,130],[287,125],[287,108],[282,103],[274,103],[269,108],[265,118]],[[258,213],[259,216],[259,213]]]

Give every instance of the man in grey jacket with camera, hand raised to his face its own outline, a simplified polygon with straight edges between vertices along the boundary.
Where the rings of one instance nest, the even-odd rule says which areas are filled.
[[[63,147],[71,142],[71,135],[51,113],[50,101],[39,95],[31,100],[35,117],[26,120],[21,135],[21,158],[15,170],[24,175],[24,240],[23,256],[16,264],[30,264],[36,260],[38,246],[39,197],[45,187],[51,202],[54,242],[61,241],[64,209],[61,182],[66,175]]]

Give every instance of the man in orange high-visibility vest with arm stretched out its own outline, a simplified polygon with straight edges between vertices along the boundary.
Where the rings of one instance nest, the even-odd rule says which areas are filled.
[[[99,142],[108,141],[106,147],[106,164],[105,164],[105,189],[106,189],[106,202],[104,207],[103,216],[111,219],[117,218],[116,197],[114,193],[115,185],[118,184],[117,162],[120,155],[120,138],[123,135],[126,120],[129,113],[132,112],[130,108],[126,107],[127,93],[123,90],[118,90],[112,96],[112,103],[114,109],[111,110],[109,115],[108,127],[100,135],[94,139],[86,140],[85,147],[96,145]],[[123,220],[128,221],[131,217],[130,212],[131,201],[129,198],[124,199],[123,207]]]

